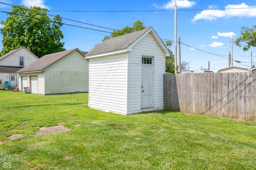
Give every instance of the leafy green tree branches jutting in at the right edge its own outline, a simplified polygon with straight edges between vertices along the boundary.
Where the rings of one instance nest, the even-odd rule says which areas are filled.
[[[256,25],[252,26],[252,28],[241,28],[241,35],[235,40],[235,44],[239,47],[242,47],[244,43],[244,51],[248,51],[250,47],[256,47]]]

